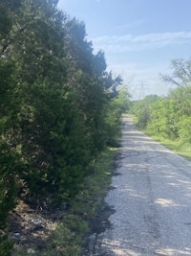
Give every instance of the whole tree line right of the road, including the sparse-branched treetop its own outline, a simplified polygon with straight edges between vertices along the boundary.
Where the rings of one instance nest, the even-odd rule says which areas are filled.
[[[146,96],[134,104],[134,113],[139,128],[191,144],[191,60],[175,59],[172,68],[172,75],[162,77],[176,88],[166,97]]]

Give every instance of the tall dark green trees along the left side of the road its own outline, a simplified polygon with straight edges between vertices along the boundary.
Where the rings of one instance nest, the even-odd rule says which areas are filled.
[[[18,198],[43,207],[69,200],[115,144],[121,79],[93,53],[84,23],[56,4],[0,2],[1,251]]]

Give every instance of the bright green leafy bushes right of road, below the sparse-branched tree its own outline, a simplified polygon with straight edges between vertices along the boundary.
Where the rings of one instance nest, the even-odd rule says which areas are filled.
[[[151,105],[147,128],[165,138],[191,143],[191,87],[177,88]]]

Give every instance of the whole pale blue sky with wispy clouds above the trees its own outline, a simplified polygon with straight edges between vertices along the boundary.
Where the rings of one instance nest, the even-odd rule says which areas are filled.
[[[58,8],[85,22],[95,51],[134,98],[166,95],[173,86],[159,74],[191,56],[191,0],[59,0]]]

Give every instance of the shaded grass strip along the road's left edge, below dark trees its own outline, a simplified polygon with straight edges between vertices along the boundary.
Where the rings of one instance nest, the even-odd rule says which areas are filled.
[[[89,235],[90,221],[96,218],[99,207],[109,190],[117,148],[107,148],[91,166],[91,175],[81,184],[80,193],[71,201],[56,228],[39,246],[16,246],[12,256],[74,256],[81,255]]]

